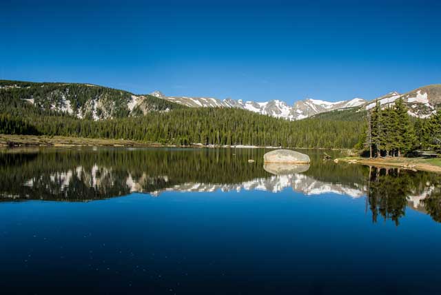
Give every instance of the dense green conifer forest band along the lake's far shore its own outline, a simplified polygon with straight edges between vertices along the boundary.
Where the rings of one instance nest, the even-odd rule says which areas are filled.
[[[13,105],[6,109],[12,113],[19,110]],[[132,139],[172,145],[352,148],[362,128],[359,121],[287,121],[236,108],[182,108],[105,120],[78,119],[48,112],[39,114],[36,108],[25,116],[0,113],[0,134]]]

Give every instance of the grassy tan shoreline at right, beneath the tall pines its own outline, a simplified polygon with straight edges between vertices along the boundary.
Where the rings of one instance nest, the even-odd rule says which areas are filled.
[[[441,159],[438,158],[379,158],[369,159],[360,156],[347,156],[334,160],[345,163],[357,163],[376,167],[400,167],[409,170],[421,170],[428,172],[441,173]]]

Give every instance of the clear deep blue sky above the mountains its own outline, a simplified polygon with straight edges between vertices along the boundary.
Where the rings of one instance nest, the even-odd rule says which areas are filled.
[[[1,0],[0,79],[294,103],[441,83],[441,1]]]

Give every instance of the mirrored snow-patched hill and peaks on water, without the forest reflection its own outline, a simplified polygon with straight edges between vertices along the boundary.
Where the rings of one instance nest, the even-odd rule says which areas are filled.
[[[358,186],[357,183],[353,185]],[[362,196],[366,190],[365,187],[353,188],[341,183],[325,183],[303,174],[272,175],[241,183],[176,183],[166,175],[150,176],[143,173],[135,178],[130,173],[123,174],[107,167],[94,165],[89,170],[78,166],[66,172],[32,176],[18,185],[18,191],[15,194],[3,192],[2,196],[4,199],[88,201],[122,196],[130,192],[143,192],[158,196],[164,191],[214,192],[220,190],[222,192],[240,192],[240,190],[263,190],[281,192],[287,187],[306,195],[334,193],[354,198]]]

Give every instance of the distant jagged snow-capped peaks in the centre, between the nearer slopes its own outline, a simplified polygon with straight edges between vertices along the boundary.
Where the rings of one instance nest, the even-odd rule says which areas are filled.
[[[215,99],[212,97],[165,96],[159,91],[152,92],[150,95],[173,103],[179,103],[189,108],[240,108],[243,110],[256,112],[258,114],[266,114],[291,121],[305,119],[309,116],[314,116],[315,114],[320,114],[322,112],[354,108],[366,103],[364,99],[359,98],[351,99],[350,101],[337,102],[305,99],[303,101],[297,101],[294,103],[294,105],[290,106],[285,103],[285,101],[280,101],[278,99],[265,102],[243,101],[242,99],[224,99],[221,101],[220,99]]]

